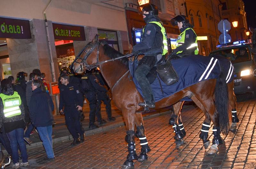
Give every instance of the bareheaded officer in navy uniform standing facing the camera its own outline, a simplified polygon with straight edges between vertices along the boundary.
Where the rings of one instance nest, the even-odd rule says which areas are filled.
[[[84,129],[80,122],[80,110],[83,107],[83,96],[75,84],[69,83],[68,74],[60,75],[60,113],[65,112],[65,121],[68,131],[73,136],[74,140],[71,145],[76,145],[84,142]],[[64,107],[64,111],[63,111]],[[79,136],[80,135],[80,139]]]

